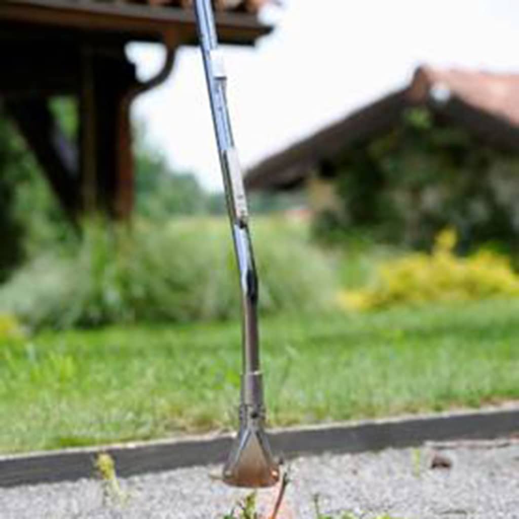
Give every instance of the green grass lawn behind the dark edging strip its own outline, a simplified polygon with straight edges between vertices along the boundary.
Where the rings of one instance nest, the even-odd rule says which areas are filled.
[[[262,322],[270,425],[519,398],[519,301]],[[0,450],[236,423],[235,323],[41,333],[0,343]]]

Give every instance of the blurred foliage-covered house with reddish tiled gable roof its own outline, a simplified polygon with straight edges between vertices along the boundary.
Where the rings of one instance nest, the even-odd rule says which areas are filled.
[[[401,90],[253,167],[251,190],[307,189],[329,221],[427,245],[519,237],[519,74],[419,67]],[[386,225],[388,224],[388,225]]]

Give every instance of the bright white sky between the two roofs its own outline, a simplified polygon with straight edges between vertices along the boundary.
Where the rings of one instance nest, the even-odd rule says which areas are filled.
[[[285,0],[277,29],[255,48],[224,47],[228,97],[244,167],[326,126],[409,79],[419,63],[519,72],[517,0]],[[143,78],[163,57],[133,45]],[[196,48],[142,95],[133,117],[172,166],[221,189],[216,145]]]

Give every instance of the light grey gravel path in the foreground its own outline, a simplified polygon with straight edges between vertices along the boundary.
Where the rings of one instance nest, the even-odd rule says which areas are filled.
[[[451,468],[431,469],[440,454]],[[124,503],[103,504],[98,481],[0,489],[2,519],[216,519],[244,495],[198,467],[121,481]],[[288,504],[314,519],[312,495],[326,513],[363,518],[519,519],[519,442],[474,442],[295,460]],[[270,496],[269,496],[270,497]],[[266,499],[265,494],[261,498]]]

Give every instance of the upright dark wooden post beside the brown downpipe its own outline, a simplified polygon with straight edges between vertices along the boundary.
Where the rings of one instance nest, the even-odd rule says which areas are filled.
[[[86,211],[127,218],[133,208],[130,92],[134,65],[124,49],[81,53],[80,170]]]

